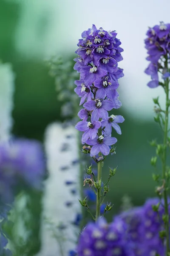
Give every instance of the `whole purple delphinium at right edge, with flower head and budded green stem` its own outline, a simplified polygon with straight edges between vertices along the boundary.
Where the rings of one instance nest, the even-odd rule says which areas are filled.
[[[168,130],[169,119],[169,82],[170,82],[170,24],[160,22],[159,25],[149,28],[147,38],[145,39],[145,47],[147,49],[150,61],[149,66],[145,70],[147,75],[151,76],[151,81],[147,84],[151,88],[161,86],[165,93],[166,104],[162,108],[159,104],[159,97],[153,99],[155,103],[156,117],[155,121],[159,123],[164,134],[163,142],[158,144],[153,140],[150,144],[156,147],[156,156],[152,157],[151,164],[156,167],[157,158],[160,157],[162,164],[162,173],[153,174],[153,179],[158,183],[156,192],[159,197],[164,198],[165,214],[162,216],[164,221],[164,232],[161,231],[161,236],[166,240],[166,255],[170,254],[170,236],[169,236],[169,209],[167,192],[169,189],[170,166],[167,165],[168,155],[167,150],[170,147],[170,136]]]

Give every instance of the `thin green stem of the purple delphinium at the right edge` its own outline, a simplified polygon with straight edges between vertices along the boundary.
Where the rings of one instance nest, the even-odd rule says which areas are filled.
[[[167,61],[165,62],[165,67],[167,67]],[[165,81],[165,93],[166,93],[166,111],[165,111],[165,123],[164,123],[164,152],[163,152],[163,157],[162,157],[162,177],[163,177],[163,180],[166,181],[168,109],[169,109],[169,105],[168,105],[168,101],[169,101],[169,82],[168,82],[168,79],[167,79],[167,81]],[[165,183],[165,189],[164,189],[164,192],[163,192],[164,209],[165,209],[165,214],[169,217],[166,185],[167,185],[167,183]],[[169,221],[167,221],[165,223],[165,230],[166,230],[166,253],[168,253],[168,252],[170,252]]]

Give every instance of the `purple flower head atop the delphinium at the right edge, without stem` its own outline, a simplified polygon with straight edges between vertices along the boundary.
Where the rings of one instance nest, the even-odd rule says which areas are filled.
[[[147,60],[150,61],[145,73],[152,79],[147,85],[155,88],[159,86],[160,78],[165,80],[170,77],[167,67],[170,59],[170,24],[161,21],[160,25],[149,28],[144,43],[148,54]]]

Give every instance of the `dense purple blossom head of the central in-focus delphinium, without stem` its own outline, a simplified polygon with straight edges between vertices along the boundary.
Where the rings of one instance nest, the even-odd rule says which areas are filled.
[[[76,128],[84,131],[83,144],[99,139],[101,134],[107,136],[105,130],[101,132],[101,125],[96,126],[95,122],[108,120],[108,111],[120,108],[122,105],[116,89],[119,86],[118,79],[123,76],[123,70],[118,67],[118,62],[123,59],[121,55],[123,49],[116,35],[115,31],[97,29],[93,25],[92,29],[82,32],[82,39],[79,39],[77,44],[79,48],[76,53],[79,57],[74,59],[76,61],[74,69],[80,73],[80,80],[75,81],[77,87],[74,91],[81,97],[80,105],[85,100],[86,102],[83,104],[84,109],[78,113],[82,122],[79,122]],[[116,128],[118,131],[117,126]],[[120,133],[120,130],[118,132]],[[88,140],[89,138],[91,140]],[[91,151],[91,156],[95,156],[100,151],[107,155],[109,145],[101,141],[93,145]]]

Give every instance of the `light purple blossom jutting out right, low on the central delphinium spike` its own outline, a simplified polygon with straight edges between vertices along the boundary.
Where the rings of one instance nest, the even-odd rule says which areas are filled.
[[[123,118],[123,116],[120,116],[120,115],[118,115],[118,116],[111,115],[111,116],[109,116],[109,118],[107,120],[103,119],[101,124],[102,124],[102,127],[105,127],[105,129],[104,129],[105,136],[111,135],[112,127],[113,127],[113,129],[115,129],[115,131],[118,134],[122,134],[122,131],[121,131],[118,123],[122,123],[124,121],[125,121],[125,119]]]

